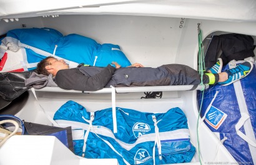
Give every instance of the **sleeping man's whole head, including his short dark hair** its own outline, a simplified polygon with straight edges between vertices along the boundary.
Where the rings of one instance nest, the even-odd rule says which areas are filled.
[[[37,64],[37,73],[42,75],[49,75],[52,73],[52,75],[55,76],[59,70],[67,68],[69,68],[69,65],[67,65],[64,60],[58,60],[50,56]]]

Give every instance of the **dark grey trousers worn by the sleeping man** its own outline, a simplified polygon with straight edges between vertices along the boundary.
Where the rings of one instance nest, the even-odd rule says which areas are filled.
[[[209,77],[204,75],[204,83]],[[116,69],[105,87],[143,87],[162,85],[198,85],[200,75],[197,70],[181,64],[167,64],[157,68],[126,67]]]

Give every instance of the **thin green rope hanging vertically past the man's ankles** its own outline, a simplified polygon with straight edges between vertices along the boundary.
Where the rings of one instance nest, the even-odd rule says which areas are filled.
[[[205,64],[204,64],[204,45],[202,43],[202,31],[200,29],[200,24],[197,24],[198,28],[198,43],[199,43],[199,74],[201,78],[201,83],[200,85],[203,85],[203,75],[205,71]],[[199,114],[197,116],[197,148],[198,148],[198,156],[199,156],[199,161],[200,164],[202,165],[201,157],[200,157],[200,144],[199,144],[199,119],[200,119],[200,113],[202,109],[202,103],[204,100],[204,89],[202,92],[202,101],[200,103],[200,109],[199,109]]]

